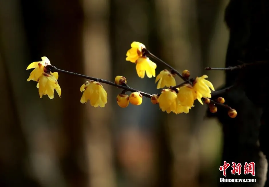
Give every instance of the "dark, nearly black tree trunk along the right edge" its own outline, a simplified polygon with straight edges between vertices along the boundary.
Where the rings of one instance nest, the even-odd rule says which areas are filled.
[[[226,67],[236,66],[242,62],[268,60],[268,12],[266,0],[231,0],[226,8],[225,21],[230,29],[230,40],[226,54]],[[266,132],[263,126],[260,135],[260,117],[266,102],[265,85],[267,85],[267,67],[243,68],[226,73],[228,87],[236,81],[240,83],[234,90],[222,96],[226,103],[236,109],[238,116],[231,119],[227,111],[219,109],[216,115],[223,125],[224,145],[222,162],[241,163],[242,174],[232,175],[230,166],[227,178],[256,178],[256,183],[219,183],[219,186],[264,186],[266,180],[267,154]],[[260,147],[261,144],[261,147]],[[244,174],[245,162],[255,162],[256,175]],[[223,177],[222,173],[221,176]]]

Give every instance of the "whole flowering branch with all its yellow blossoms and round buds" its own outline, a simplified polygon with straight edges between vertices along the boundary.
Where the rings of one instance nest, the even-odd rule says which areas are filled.
[[[145,74],[149,78],[155,77],[155,69],[157,65],[152,62],[148,56],[163,62],[151,54],[146,49],[145,45],[139,42],[132,42],[131,48],[126,53],[126,60],[135,63],[137,75],[140,78],[144,78]],[[35,68],[31,72],[27,81],[33,80],[37,82],[40,98],[43,95],[48,95],[50,99],[53,99],[54,89],[60,97],[61,88],[57,81],[58,72],[65,72],[73,75],[79,74],[55,68],[55,66],[50,64],[50,61],[47,57],[42,57],[41,59],[42,61],[33,62],[27,67],[27,70]],[[169,68],[171,67],[169,66]],[[183,83],[176,85],[176,74],[183,79]],[[207,75],[196,77],[195,79],[190,79],[190,72],[188,70],[184,70],[182,75],[173,68],[171,68],[170,71],[167,69],[162,70],[157,75],[155,83],[158,82],[157,89],[165,87],[167,88],[163,89],[161,93],[153,95],[130,88],[127,85],[127,80],[124,76],[116,76],[114,83],[107,80],[87,77],[84,75],[79,76],[89,79],[89,81],[86,81],[80,87],[80,91],[83,92],[80,102],[87,103],[89,100],[93,107],[104,107],[107,103],[107,93],[100,82],[123,89],[123,91],[116,97],[118,105],[122,108],[127,107],[129,103],[133,105],[141,105],[143,96],[151,98],[151,102],[153,104],[159,104],[159,107],[162,111],[166,111],[167,113],[173,112],[175,114],[189,113],[189,109],[194,107],[194,101],[196,99],[202,105],[203,101],[205,104],[209,105],[210,111],[212,113],[217,112],[216,105],[223,105],[224,103],[224,99],[221,97],[219,97],[216,101],[209,99],[211,98],[211,90],[214,91],[215,89],[212,83],[206,80],[206,78],[208,78]],[[132,92],[130,96],[125,93],[127,91]],[[236,117],[237,113],[234,109],[230,109],[228,115],[234,118]]]

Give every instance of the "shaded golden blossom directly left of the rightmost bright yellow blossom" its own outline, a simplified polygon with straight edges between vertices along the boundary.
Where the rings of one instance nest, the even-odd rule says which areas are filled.
[[[190,84],[185,84],[179,88],[177,100],[180,105],[192,107],[195,99],[197,99],[197,95]]]

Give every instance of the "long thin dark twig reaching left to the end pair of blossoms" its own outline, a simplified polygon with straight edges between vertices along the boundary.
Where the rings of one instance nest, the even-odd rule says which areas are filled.
[[[123,85],[119,85],[119,84],[116,84],[114,82],[110,82],[108,80],[104,80],[104,79],[101,79],[101,78],[94,78],[94,77],[90,77],[90,76],[86,76],[86,75],[82,75],[82,74],[78,74],[78,73],[74,73],[74,72],[70,72],[70,71],[66,71],[66,70],[61,70],[61,69],[58,69],[58,68],[56,68],[55,66],[52,66],[52,65],[47,65],[46,66],[46,69],[48,71],[50,71],[50,72],[62,72],[62,73],[66,73],[66,74],[78,76],[78,77],[81,77],[81,78],[86,78],[88,80],[94,80],[96,82],[101,82],[101,83],[104,83],[104,84],[109,84],[111,86],[122,88],[126,92],[140,92],[141,95],[143,95],[144,97],[147,97],[147,98],[151,98],[152,97],[152,94],[149,94],[149,93],[146,93],[146,92],[141,92],[141,91],[136,90],[134,88],[131,88],[129,86],[123,86]]]

